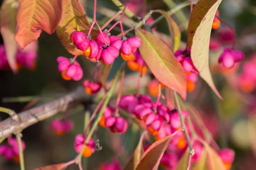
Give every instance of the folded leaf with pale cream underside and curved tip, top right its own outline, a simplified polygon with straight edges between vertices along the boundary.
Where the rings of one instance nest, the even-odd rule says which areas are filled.
[[[189,19],[188,45],[191,48],[191,59],[200,76],[222,99],[212,80],[209,70],[209,41],[212,22],[222,0],[199,0],[193,8]]]

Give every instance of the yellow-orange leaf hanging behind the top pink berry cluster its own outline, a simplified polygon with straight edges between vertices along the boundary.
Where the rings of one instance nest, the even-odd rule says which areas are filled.
[[[56,29],[56,33],[65,49],[73,55],[82,55],[83,51],[76,48],[76,45],[70,45],[70,33],[73,31],[82,31],[87,33],[90,23],[79,0],[63,0],[63,12],[61,21]],[[92,29],[91,37],[96,39],[98,34],[96,28]]]

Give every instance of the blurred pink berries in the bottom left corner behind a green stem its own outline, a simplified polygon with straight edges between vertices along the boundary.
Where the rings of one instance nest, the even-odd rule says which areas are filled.
[[[25,142],[21,141],[22,150],[25,150],[26,144]],[[11,139],[9,137],[8,144],[0,145],[0,156],[4,156],[6,160],[14,160],[15,162],[19,163],[19,147],[17,143],[17,139]]]

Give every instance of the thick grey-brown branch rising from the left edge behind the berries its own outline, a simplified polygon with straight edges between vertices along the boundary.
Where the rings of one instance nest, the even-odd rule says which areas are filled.
[[[138,73],[126,76],[123,83],[123,89],[129,91],[137,88],[137,83],[134,82],[137,81],[139,76],[140,75]],[[145,87],[148,84],[149,79],[149,76],[143,76],[140,80],[140,87]],[[119,83],[117,84],[114,93],[117,93],[118,89]],[[103,96],[103,93],[104,91],[101,91],[96,97],[100,98],[100,96]],[[74,105],[86,102],[88,99],[89,96],[84,92],[84,89],[79,87],[75,91],[61,96],[58,99],[54,99],[38,107],[18,113],[20,118],[18,121],[9,117],[8,119],[0,122],[0,138],[8,136],[11,133],[17,133],[39,121],[52,117],[59,112],[66,111],[67,108],[72,108]]]

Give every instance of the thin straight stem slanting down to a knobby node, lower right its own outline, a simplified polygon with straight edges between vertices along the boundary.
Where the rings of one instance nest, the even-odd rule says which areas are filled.
[[[179,102],[179,99],[178,99],[177,92],[173,91],[173,94],[174,94],[176,107],[177,107],[177,110],[178,110],[178,113],[179,113],[179,116],[180,116],[181,126],[182,126],[182,129],[184,130],[186,141],[188,142],[188,145],[189,145],[190,155],[194,156],[195,155],[195,150],[194,150],[194,148],[192,146],[192,143],[190,141],[188,130],[186,129],[186,125],[185,125],[184,117],[182,115],[182,111],[181,111],[181,108],[180,108],[180,102]]]

